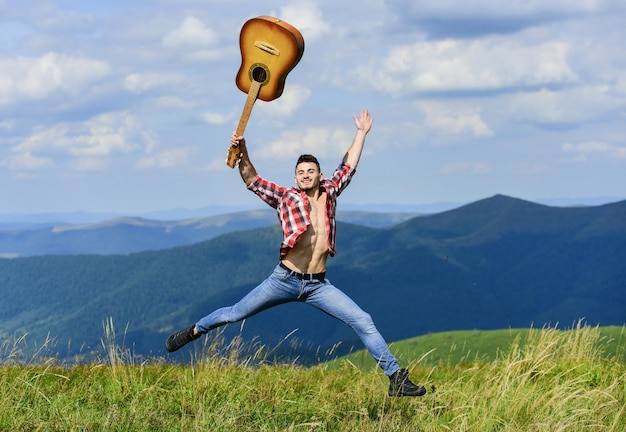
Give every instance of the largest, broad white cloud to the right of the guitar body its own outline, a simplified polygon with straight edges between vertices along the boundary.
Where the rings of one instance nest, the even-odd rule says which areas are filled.
[[[576,80],[567,63],[568,49],[558,41],[524,45],[502,37],[418,42],[393,48],[354,75],[392,95],[563,84]]]

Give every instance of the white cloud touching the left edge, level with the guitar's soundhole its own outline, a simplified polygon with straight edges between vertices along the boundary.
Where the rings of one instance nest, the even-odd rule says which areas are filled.
[[[107,63],[48,53],[39,58],[0,59],[0,105],[44,99],[57,92],[78,94],[110,72]]]

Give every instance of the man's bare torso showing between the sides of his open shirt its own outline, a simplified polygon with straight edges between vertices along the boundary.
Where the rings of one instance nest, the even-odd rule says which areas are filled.
[[[283,263],[301,273],[321,273],[326,271],[328,258],[326,192],[322,192],[317,199],[309,197],[309,216],[311,225],[287,252]]]

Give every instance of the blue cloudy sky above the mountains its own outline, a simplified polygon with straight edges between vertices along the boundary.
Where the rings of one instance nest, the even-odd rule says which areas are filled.
[[[0,214],[262,206],[225,164],[262,15],[305,41],[245,130],[264,177],[330,177],[368,109],[340,202],[626,198],[623,0],[0,0]]]

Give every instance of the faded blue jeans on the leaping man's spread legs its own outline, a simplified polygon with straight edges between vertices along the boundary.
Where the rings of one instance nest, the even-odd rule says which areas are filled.
[[[279,304],[299,301],[315,306],[328,315],[349,325],[361,338],[386,375],[398,370],[398,362],[387,342],[376,329],[372,317],[350,297],[333,286],[328,279],[303,281],[289,270],[276,266],[272,274],[233,306],[223,307],[200,319],[200,333],[234,323]]]

